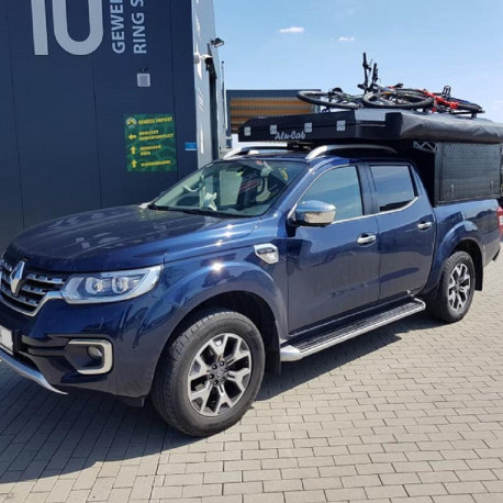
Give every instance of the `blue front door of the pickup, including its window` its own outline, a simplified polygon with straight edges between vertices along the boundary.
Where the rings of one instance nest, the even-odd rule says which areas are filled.
[[[290,333],[370,306],[379,300],[378,224],[366,215],[356,166],[331,168],[299,202],[334,204],[326,227],[299,226],[288,238]]]

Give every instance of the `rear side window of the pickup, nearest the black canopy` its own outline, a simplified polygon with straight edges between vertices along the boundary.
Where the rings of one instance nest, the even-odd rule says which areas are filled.
[[[379,212],[400,210],[415,197],[409,166],[371,166]]]

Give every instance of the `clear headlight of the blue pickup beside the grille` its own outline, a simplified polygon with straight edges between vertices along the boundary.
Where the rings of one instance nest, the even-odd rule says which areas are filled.
[[[118,272],[71,276],[62,289],[69,304],[120,302],[149,292],[159,280],[163,266]]]

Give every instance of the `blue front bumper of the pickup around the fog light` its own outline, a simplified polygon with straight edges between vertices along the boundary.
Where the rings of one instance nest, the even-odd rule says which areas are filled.
[[[79,388],[143,399],[169,335],[171,312],[156,290],[110,304],[53,300],[33,317],[0,303],[0,325],[14,342],[12,355],[0,350],[0,359],[51,391]],[[94,361],[90,347],[98,355]]]

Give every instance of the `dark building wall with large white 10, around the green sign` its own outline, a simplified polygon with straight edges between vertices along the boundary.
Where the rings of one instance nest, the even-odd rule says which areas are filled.
[[[148,201],[198,167],[192,24],[190,1],[0,2],[0,254],[23,227]],[[177,170],[127,171],[127,114],[174,116]]]

